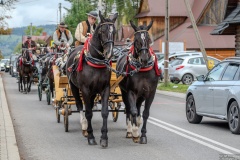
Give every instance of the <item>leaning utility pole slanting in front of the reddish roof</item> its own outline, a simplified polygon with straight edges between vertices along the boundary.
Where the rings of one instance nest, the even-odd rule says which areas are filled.
[[[199,31],[198,31],[198,28],[197,28],[197,25],[196,25],[196,21],[195,21],[195,19],[194,19],[194,17],[193,17],[193,13],[192,13],[192,10],[191,10],[189,1],[188,1],[188,0],[184,0],[184,1],[185,1],[185,5],[186,5],[186,8],[187,8],[188,15],[189,15],[189,17],[190,17],[190,19],[191,19],[191,22],[192,22],[192,26],[193,26],[194,33],[195,33],[195,36],[196,36],[197,41],[198,41],[198,45],[199,45],[200,50],[201,50],[202,55],[203,55],[203,59],[204,59],[205,62],[206,62],[207,69],[210,70],[210,68],[209,68],[209,66],[208,66],[208,59],[207,59],[206,50],[205,50],[205,48],[204,48],[202,39],[201,39],[201,37],[200,37]]]

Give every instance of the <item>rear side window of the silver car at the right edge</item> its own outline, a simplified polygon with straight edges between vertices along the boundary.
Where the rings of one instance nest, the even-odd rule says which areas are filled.
[[[234,80],[234,77],[237,73],[238,67],[239,67],[238,64],[229,64],[223,74],[222,80],[223,81]]]

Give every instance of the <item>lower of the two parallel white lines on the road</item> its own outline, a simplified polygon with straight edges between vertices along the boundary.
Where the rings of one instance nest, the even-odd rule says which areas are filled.
[[[200,144],[202,144],[202,145],[204,145],[204,146],[207,146],[207,147],[209,147],[209,148],[212,148],[212,149],[214,149],[214,150],[216,150],[216,151],[219,151],[219,152],[221,152],[221,153],[223,153],[223,154],[233,154],[233,153],[228,152],[228,151],[226,151],[226,150],[223,150],[223,149],[221,149],[221,148],[215,147],[215,146],[213,146],[213,145],[211,145],[211,144],[209,144],[209,143],[206,143],[206,142],[204,142],[204,141],[201,141],[201,140],[199,140],[199,139],[197,139],[197,138],[188,136],[188,135],[186,135],[186,134],[184,134],[184,133],[181,133],[181,132],[179,132],[179,131],[177,131],[177,130],[171,129],[171,128],[166,127],[166,126],[163,126],[163,125],[161,125],[161,124],[159,124],[159,123],[153,122],[153,121],[151,121],[151,120],[148,120],[148,122],[151,123],[151,124],[154,124],[154,125],[156,125],[156,126],[158,126],[158,127],[161,127],[161,128],[163,128],[163,129],[166,129],[166,130],[168,130],[168,131],[170,131],[170,132],[176,133],[176,134],[178,134],[178,135],[180,135],[180,136],[182,136],[182,137],[185,137],[185,138],[187,138],[187,139],[190,139],[190,140],[192,140],[192,141],[195,141],[195,142],[197,142],[197,143],[200,143]]]

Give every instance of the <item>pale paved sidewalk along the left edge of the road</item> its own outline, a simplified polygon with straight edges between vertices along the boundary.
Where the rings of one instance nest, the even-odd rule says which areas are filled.
[[[0,75],[0,159],[20,160],[12,119]]]

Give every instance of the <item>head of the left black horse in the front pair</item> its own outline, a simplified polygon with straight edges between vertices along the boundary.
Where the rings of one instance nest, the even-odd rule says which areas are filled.
[[[118,17],[118,13],[115,13],[113,17],[109,19],[104,18],[101,11],[99,11],[99,17],[100,23],[93,34],[92,45],[98,53],[100,53],[106,60],[109,60],[113,56],[114,38],[116,33],[114,23]]]

